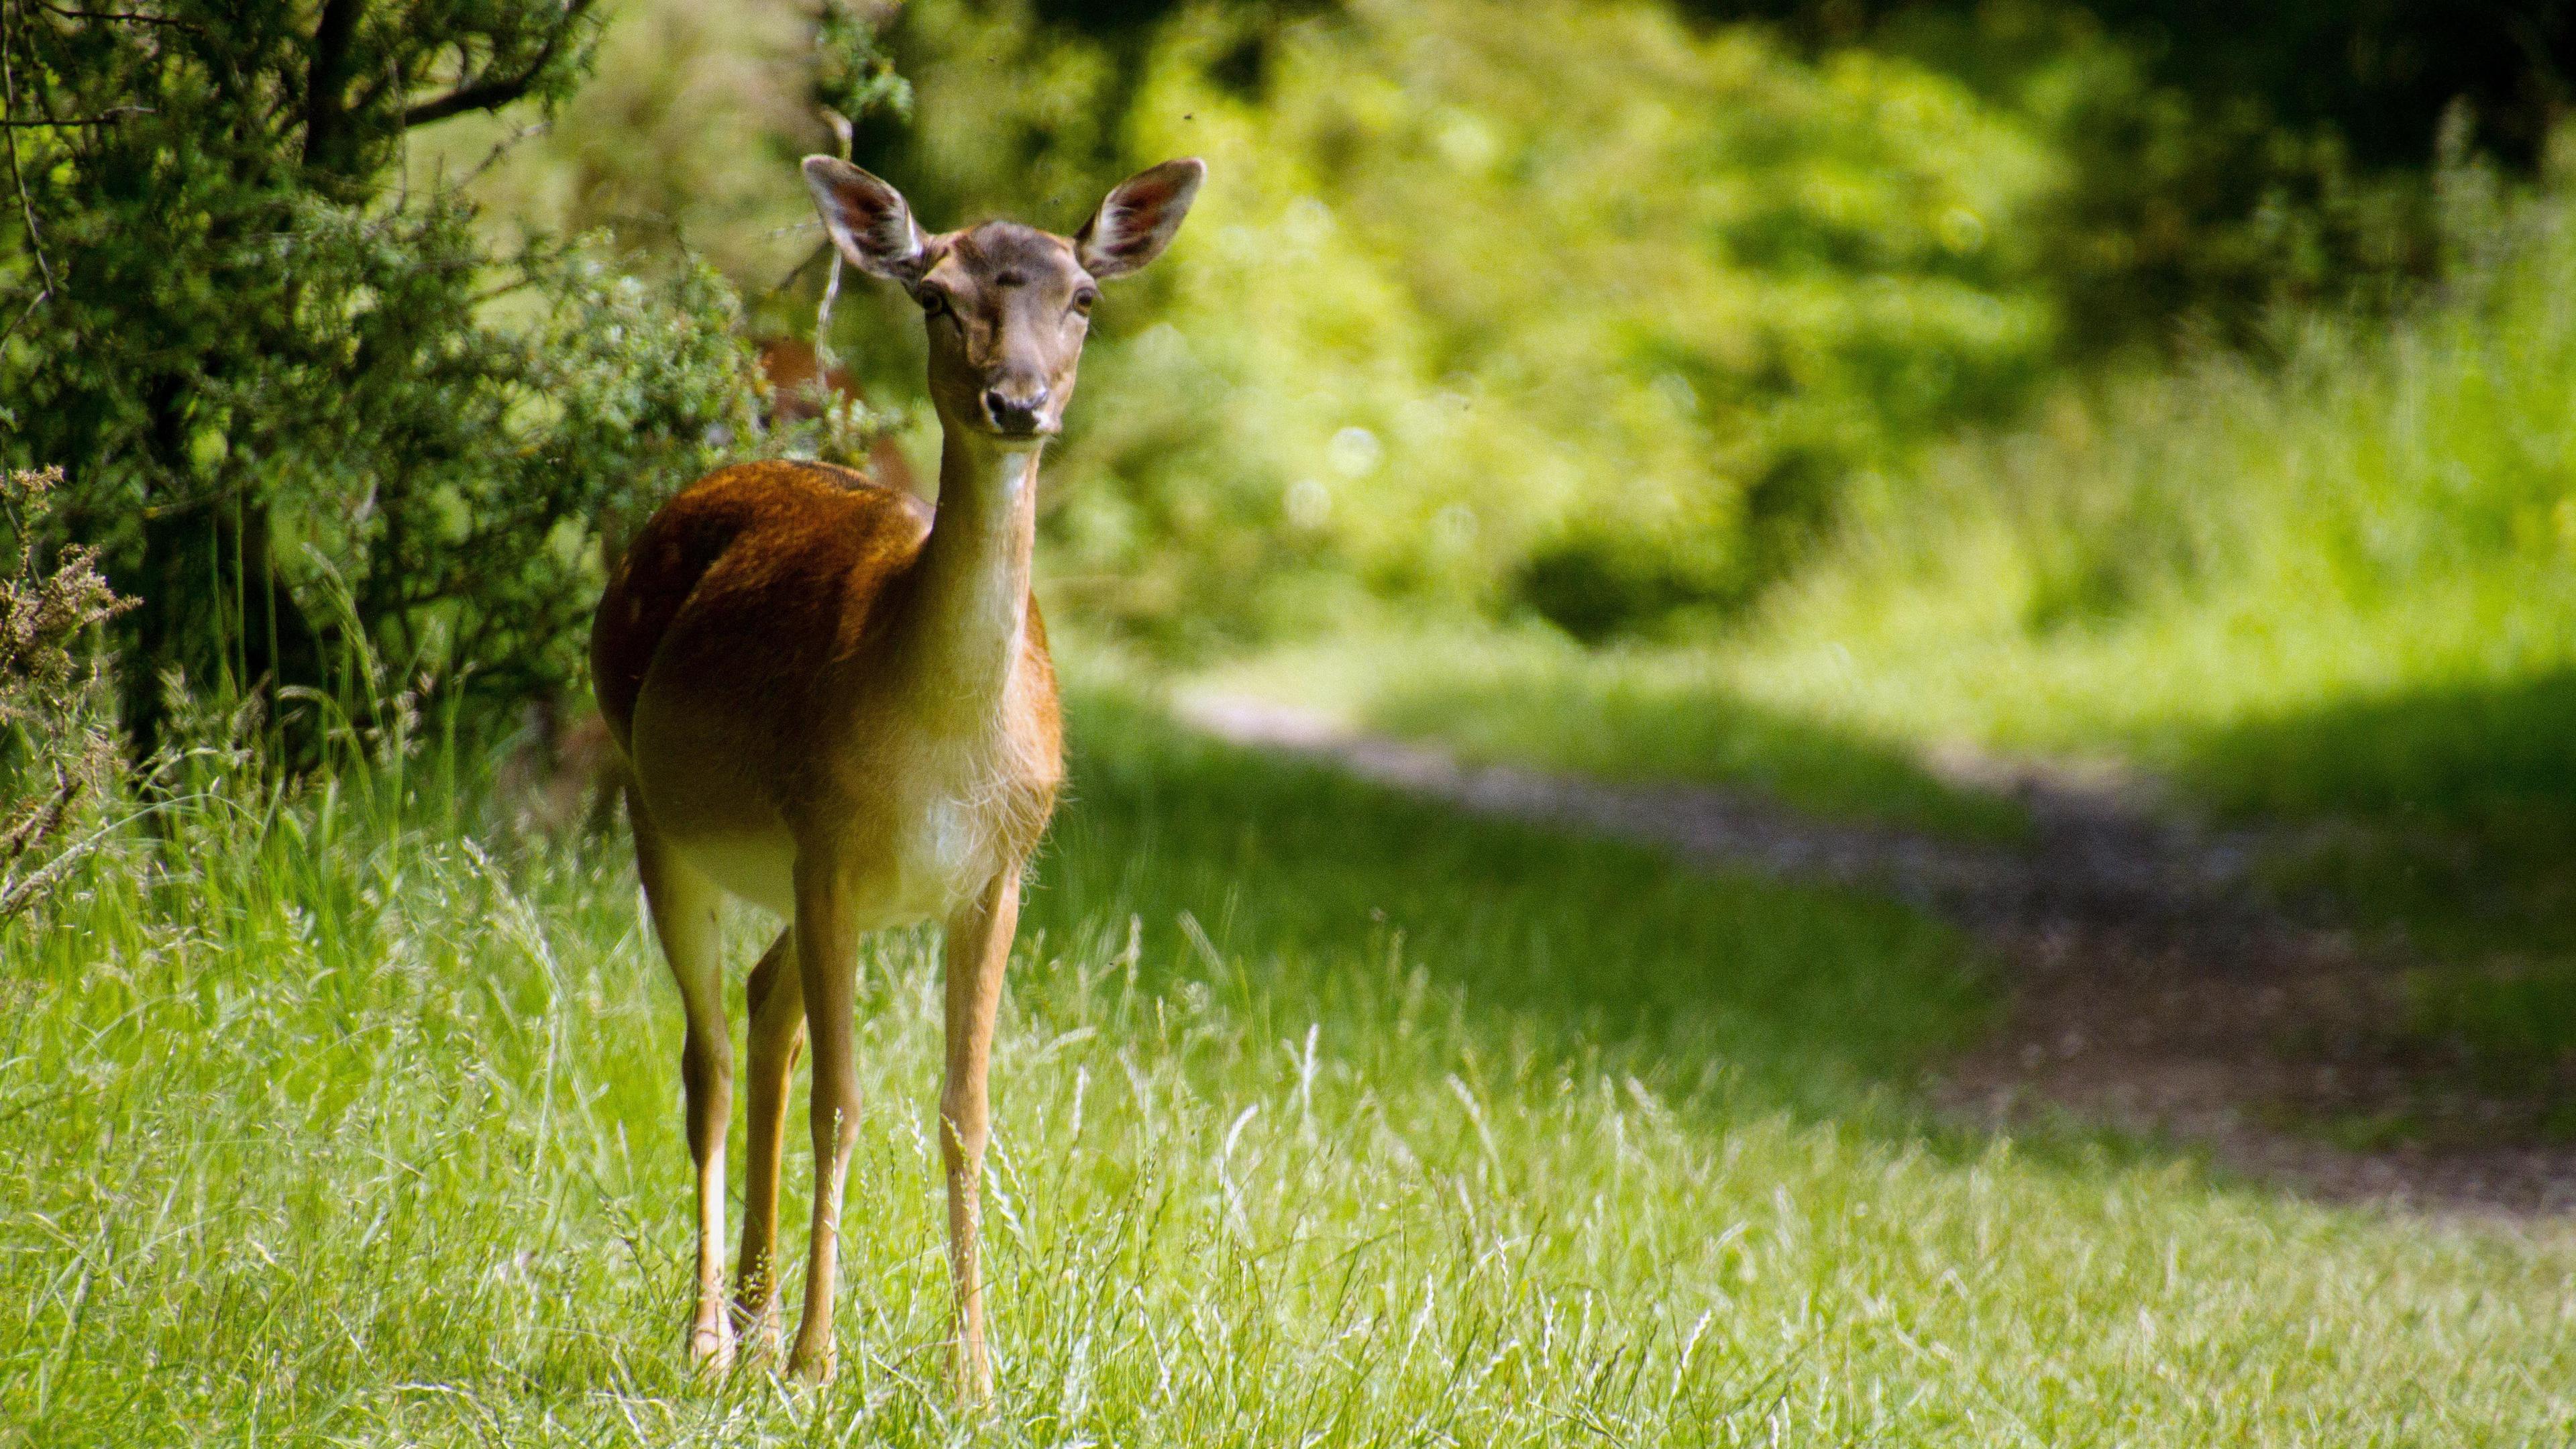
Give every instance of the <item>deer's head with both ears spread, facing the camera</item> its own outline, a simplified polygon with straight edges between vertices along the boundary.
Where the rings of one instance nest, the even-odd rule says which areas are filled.
[[[1100,284],[1162,255],[1208,168],[1185,157],[1131,175],[1072,237],[1018,222],[922,235],[904,193],[866,170],[817,155],[804,173],[840,255],[920,302],[940,423],[1033,441],[1064,425]]]

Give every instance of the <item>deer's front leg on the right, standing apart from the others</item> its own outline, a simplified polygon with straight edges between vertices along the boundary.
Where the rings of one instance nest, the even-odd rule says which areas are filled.
[[[940,1085],[940,1155],[948,1165],[948,1271],[956,1279],[953,1372],[958,1397],[992,1397],[984,1351],[984,1080],[992,1070],[992,1016],[1002,1000],[1002,967],[1020,926],[1020,869],[994,877],[984,895],[948,918],[948,1080]]]

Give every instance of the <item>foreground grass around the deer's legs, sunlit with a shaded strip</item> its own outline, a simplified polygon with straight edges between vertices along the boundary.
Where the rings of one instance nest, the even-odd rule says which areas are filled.
[[[1911,1085],[1991,998],[1906,910],[1115,694],[1077,743],[997,1044],[989,1421],[940,1390],[927,944],[866,959],[842,1379],[698,1385],[677,1006],[626,864],[484,853],[353,779],[222,784],[0,936],[0,1441],[2576,1434],[2563,1227],[1932,1129]]]

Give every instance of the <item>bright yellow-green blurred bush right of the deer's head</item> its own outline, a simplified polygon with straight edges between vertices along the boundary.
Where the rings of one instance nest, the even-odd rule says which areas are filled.
[[[1203,152],[1190,268],[1103,348],[1066,567],[1255,629],[1350,585],[1602,634],[1741,598],[1834,480],[2007,410],[2050,345],[2053,162],[1917,67],[1826,67],[1651,8],[1355,5],[1175,31],[1141,152]]]

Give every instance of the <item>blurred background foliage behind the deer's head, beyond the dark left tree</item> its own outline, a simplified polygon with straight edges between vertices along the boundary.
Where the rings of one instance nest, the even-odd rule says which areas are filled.
[[[1069,232],[1136,165],[1208,157],[1175,258],[1103,315],[1043,549],[1066,614],[1185,657],[1425,619],[1741,627],[1950,441],[2136,410],[2141,374],[2215,351],[2269,369],[2308,317],[2367,333],[2473,266],[2486,199],[2548,170],[2563,41],[2537,8],[850,18],[899,77],[858,160],[925,224]],[[791,162],[829,144],[829,41],[801,0],[631,0],[469,196],[636,266],[703,255],[755,330],[811,330]],[[412,170],[523,124],[425,131]],[[863,286],[832,340],[902,407],[917,333]],[[2050,562],[2032,619],[2159,567],[2117,552]]]

